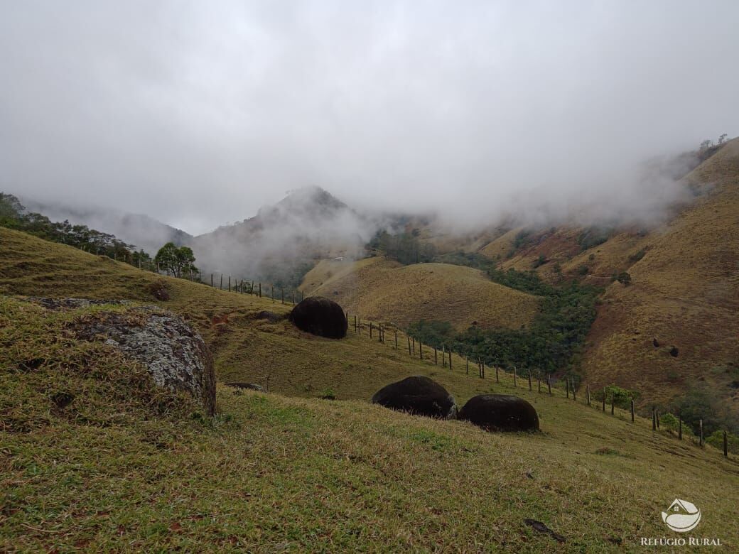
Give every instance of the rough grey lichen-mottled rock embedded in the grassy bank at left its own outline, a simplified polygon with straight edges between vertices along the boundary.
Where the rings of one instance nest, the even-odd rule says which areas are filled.
[[[49,310],[76,309],[98,304],[126,305],[125,301],[82,298],[33,298]],[[127,307],[125,311],[96,312],[75,321],[75,335],[86,341],[104,341],[127,358],[142,363],[159,386],[186,391],[208,414],[216,408],[216,378],[208,346],[177,315],[155,306]]]

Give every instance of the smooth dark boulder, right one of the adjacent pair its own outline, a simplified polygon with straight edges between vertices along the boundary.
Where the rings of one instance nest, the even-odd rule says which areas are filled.
[[[467,420],[486,431],[538,431],[539,416],[534,406],[510,394],[480,394],[460,410]]]

